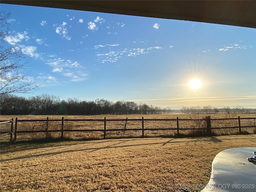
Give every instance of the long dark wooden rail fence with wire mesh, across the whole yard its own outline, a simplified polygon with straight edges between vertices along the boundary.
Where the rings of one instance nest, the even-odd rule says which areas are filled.
[[[9,124],[8,124],[9,123]],[[9,129],[2,128],[5,124]],[[212,136],[256,134],[256,118],[202,119],[40,119],[1,122],[1,142],[48,138],[106,139],[128,137]],[[8,129],[8,130],[7,130]],[[222,131],[221,131],[222,130]],[[13,136],[14,135],[14,136]],[[3,137],[2,137],[3,136]]]

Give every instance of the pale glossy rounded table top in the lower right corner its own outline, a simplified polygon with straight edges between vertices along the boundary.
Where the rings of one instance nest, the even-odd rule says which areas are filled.
[[[253,157],[256,147],[224,150],[212,162],[210,181],[202,192],[256,192],[256,163]]]

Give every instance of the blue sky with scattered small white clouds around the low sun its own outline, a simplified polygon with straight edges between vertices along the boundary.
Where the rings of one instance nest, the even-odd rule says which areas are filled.
[[[1,4],[9,43],[44,82],[30,97],[256,108],[256,29]],[[190,80],[202,86],[193,90]]]

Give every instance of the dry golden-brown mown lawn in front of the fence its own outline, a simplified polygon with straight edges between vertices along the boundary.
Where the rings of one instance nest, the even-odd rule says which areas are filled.
[[[16,143],[1,148],[1,191],[182,191],[207,184],[222,150],[256,135]],[[191,191],[201,189],[192,188]]]

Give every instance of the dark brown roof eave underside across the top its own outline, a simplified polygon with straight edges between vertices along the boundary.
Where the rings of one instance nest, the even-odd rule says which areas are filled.
[[[0,3],[256,28],[256,0],[1,0]]]

